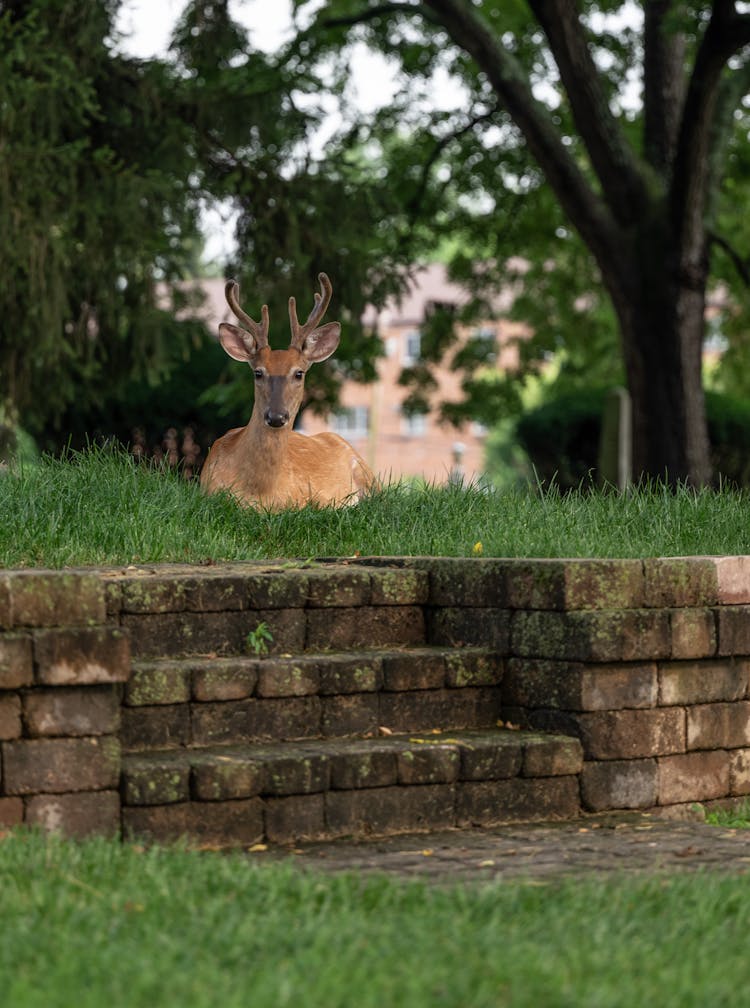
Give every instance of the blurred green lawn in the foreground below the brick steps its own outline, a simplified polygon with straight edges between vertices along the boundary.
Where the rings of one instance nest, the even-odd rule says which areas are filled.
[[[239,855],[0,843],[12,1008],[745,1003],[750,878],[428,887]]]

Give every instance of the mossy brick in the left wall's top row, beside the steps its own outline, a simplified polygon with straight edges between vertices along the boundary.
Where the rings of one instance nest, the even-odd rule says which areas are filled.
[[[87,626],[104,623],[107,617],[104,585],[98,575],[13,571],[0,576],[0,581],[9,591],[13,626]]]

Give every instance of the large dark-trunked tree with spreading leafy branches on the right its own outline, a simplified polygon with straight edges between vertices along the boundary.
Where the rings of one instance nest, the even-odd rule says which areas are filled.
[[[623,12],[631,26],[612,22]],[[433,117],[433,150],[454,143],[453,168],[473,148],[456,174],[480,175],[475,192],[486,184],[488,231],[506,227],[508,188],[540,199],[548,187],[565,215],[557,240],[575,229],[614,309],[635,471],[708,482],[704,317],[712,252],[731,248],[718,227],[750,82],[750,14],[732,0],[332,0],[301,37],[323,52],[355,36],[398,58],[411,87],[440,65],[461,77],[468,111]],[[638,110],[624,100],[633,75]],[[430,165],[414,167],[426,192]]]

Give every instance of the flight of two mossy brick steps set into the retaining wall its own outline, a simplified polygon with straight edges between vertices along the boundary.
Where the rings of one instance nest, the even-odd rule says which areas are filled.
[[[501,655],[427,645],[423,629],[388,643],[403,628],[378,621],[366,646],[366,624],[356,648],[323,650],[316,634],[311,650],[258,657],[202,636],[217,650],[137,657],[120,735],[126,834],[252,845],[580,812],[581,744],[503,725]]]

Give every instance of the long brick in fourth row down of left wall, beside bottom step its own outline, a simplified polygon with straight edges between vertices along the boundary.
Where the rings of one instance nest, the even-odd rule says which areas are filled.
[[[117,787],[119,777],[120,744],[111,736],[3,743],[7,794],[103,790]]]

